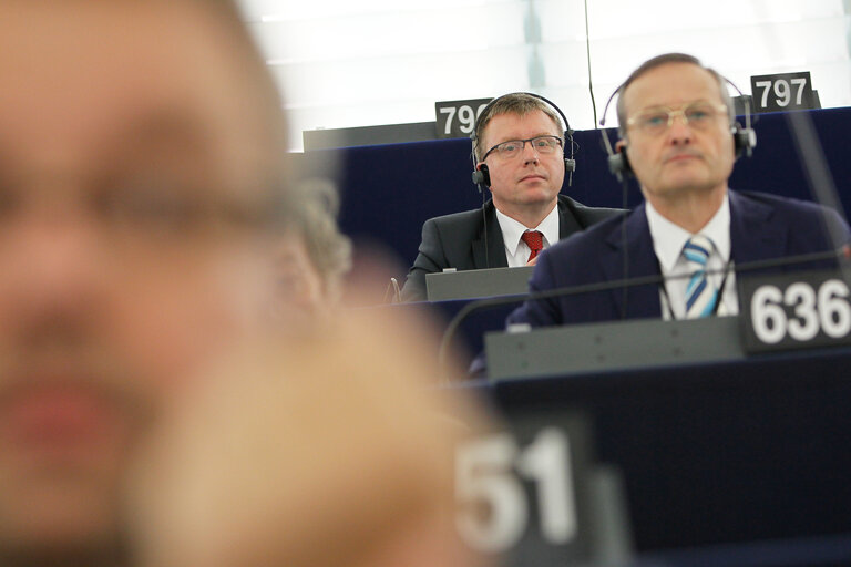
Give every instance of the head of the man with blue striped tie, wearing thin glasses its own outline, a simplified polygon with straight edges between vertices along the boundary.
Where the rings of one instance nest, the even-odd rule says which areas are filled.
[[[646,198],[722,192],[735,161],[734,106],[725,79],[681,53],[629,75],[617,101],[622,140]]]

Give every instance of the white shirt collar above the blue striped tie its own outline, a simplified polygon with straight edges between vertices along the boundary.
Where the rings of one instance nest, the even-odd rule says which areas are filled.
[[[649,200],[645,200],[647,224],[653,237],[653,249],[659,259],[664,271],[674,269],[674,265],[683,252],[686,241],[691,238],[691,233],[663,217],[653,208]],[[721,206],[715,213],[709,223],[700,229],[700,234],[709,237],[722,261],[730,258],[730,197],[725,195]]]

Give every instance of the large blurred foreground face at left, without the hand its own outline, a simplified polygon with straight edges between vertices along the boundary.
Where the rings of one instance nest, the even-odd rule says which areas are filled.
[[[0,83],[0,564],[92,565],[164,400],[267,323],[280,103],[224,0],[2,2]]]

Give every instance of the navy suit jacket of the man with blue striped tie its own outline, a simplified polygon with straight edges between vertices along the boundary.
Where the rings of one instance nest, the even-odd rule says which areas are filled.
[[[736,265],[832,249],[826,227],[842,243],[851,240],[848,225],[832,209],[761,193],[730,192],[730,248]],[[624,274],[624,241],[628,272]],[[824,268],[819,265],[787,269]],[[544,250],[530,280],[531,291],[615,281],[624,277],[659,276],[644,204],[623,223],[613,218]],[[615,319],[662,317],[659,284],[530,300],[509,322],[533,327]]]

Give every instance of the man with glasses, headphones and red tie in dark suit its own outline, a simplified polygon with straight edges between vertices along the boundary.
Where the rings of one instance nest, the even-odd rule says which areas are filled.
[[[492,198],[426,221],[402,299],[426,299],[426,275],[445,268],[534,264],[542,249],[615,214],[560,195],[565,143],[558,114],[543,100],[511,93],[491,102],[475,124],[473,157]]]

